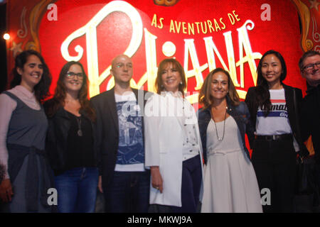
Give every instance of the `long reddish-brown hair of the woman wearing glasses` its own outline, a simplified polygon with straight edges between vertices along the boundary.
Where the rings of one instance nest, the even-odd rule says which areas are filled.
[[[65,106],[65,96],[66,96],[66,87],[64,83],[65,75],[69,71],[72,65],[79,65],[82,70],[83,80],[82,80],[82,87],[80,88],[78,98],[80,102],[80,109],[84,110],[91,119],[91,121],[95,121],[95,111],[90,106],[90,101],[87,98],[87,91],[88,91],[88,79],[87,74],[85,74],[85,70],[80,62],[67,62],[63,65],[60,75],[57,82],[57,87],[55,87],[55,94],[53,95],[53,99],[49,100],[49,103],[46,104],[46,114],[49,117],[52,117],[60,107]]]

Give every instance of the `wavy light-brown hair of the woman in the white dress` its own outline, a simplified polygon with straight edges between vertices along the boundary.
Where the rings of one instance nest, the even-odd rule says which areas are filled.
[[[211,86],[213,74],[217,72],[223,72],[228,77],[228,91],[229,91],[227,94],[228,100],[233,106],[238,106],[240,104],[240,98],[239,98],[238,92],[235,90],[235,85],[233,84],[230,74],[227,70],[223,70],[223,68],[220,68],[220,67],[209,72],[206,79],[204,80],[202,87],[200,89],[199,97],[198,97],[199,104],[203,105],[203,109],[207,109],[211,106],[212,97],[210,94],[210,90],[211,90],[210,86]]]

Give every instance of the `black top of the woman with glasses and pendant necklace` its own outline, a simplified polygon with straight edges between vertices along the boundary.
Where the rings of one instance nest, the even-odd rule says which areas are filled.
[[[68,155],[66,169],[74,167],[93,167],[95,161],[93,157],[92,127],[89,119],[75,116],[68,112],[70,117],[70,129],[68,131]],[[82,136],[78,135],[81,129]]]

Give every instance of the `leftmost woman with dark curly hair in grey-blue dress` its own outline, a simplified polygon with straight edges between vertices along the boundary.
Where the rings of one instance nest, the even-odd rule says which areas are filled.
[[[16,57],[11,89],[0,95],[0,198],[7,212],[50,212],[48,189],[53,176],[44,152],[48,120],[41,101],[51,75],[40,53]]]

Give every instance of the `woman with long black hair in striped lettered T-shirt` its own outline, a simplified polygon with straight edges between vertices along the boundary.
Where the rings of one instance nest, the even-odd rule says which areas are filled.
[[[257,86],[245,97],[255,127],[255,138],[249,138],[252,164],[260,189],[271,196],[265,212],[293,211],[296,152],[305,150],[299,132],[302,91],[284,84],[286,76],[282,55],[265,52],[257,66]]]

